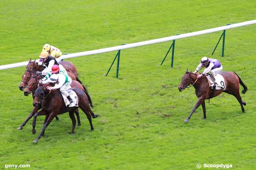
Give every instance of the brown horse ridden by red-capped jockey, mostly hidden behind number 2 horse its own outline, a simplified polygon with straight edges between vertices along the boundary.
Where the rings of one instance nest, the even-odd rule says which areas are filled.
[[[35,98],[34,93],[35,90],[37,89],[38,83],[39,83],[39,75],[34,76],[34,78],[31,78],[28,81],[28,86],[24,89],[24,95],[28,95],[30,93],[32,93],[32,97],[33,99]],[[70,85],[72,88],[80,88],[81,90],[86,90],[85,87],[80,84],[78,81],[76,80],[72,80],[72,83]],[[32,112],[30,113],[30,115],[28,115],[27,119],[19,126],[19,128],[17,128],[17,130],[22,130],[23,126],[26,125],[26,123],[35,115],[35,113],[38,112],[38,110],[40,110],[42,107],[40,104],[37,105],[37,107],[33,107]],[[80,122],[80,117],[79,117],[79,112],[78,110],[75,111],[76,113],[76,117],[78,120],[78,126],[81,125]],[[44,115],[43,113],[39,112],[37,113],[37,115]],[[56,117],[56,119],[58,119],[58,117]],[[32,133],[35,134],[36,130],[35,130],[35,121],[33,121],[32,123],[33,129],[32,129]]]

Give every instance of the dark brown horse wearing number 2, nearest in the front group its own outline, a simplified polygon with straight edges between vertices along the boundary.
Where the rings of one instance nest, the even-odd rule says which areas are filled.
[[[94,114],[89,106],[88,98],[83,90],[78,88],[72,88],[77,97],[78,97],[78,106],[85,113],[87,119],[89,120],[91,130],[94,130],[92,119],[98,117],[98,115]],[[33,100],[33,106],[37,106],[41,103],[43,110],[48,112],[45,117],[45,124],[42,128],[39,136],[33,141],[34,143],[38,143],[38,140],[44,134],[45,129],[50,124],[52,119],[58,115],[59,113],[69,112],[69,117],[72,120],[72,130],[71,133],[74,133],[74,128],[76,126],[76,119],[74,117],[74,110],[78,107],[70,107],[67,108],[64,100],[62,99],[62,95],[58,90],[48,90],[45,86],[40,86],[35,90],[35,99]]]

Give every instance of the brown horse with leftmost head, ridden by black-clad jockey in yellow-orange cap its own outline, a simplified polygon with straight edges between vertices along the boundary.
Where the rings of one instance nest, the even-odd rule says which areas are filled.
[[[66,69],[69,77],[72,80],[77,80],[82,84],[82,82],[78,79],[76,66],[74,66],[72,62],[61,61],[59,62],[59,64],[61,64]],[[24,88],[28,85],[28,80],[33,76],[33,73],[35,73],[36,71],[43,71],[43,69],[45,69],[43,66],[38,65],[38,63],[35,62],[35,60],[31,61],[30,59],[28,61],[28,65],[26,66],[26,71],[22,75],[22,80],[20,82],[19,89],[21,91],[24,90]]]

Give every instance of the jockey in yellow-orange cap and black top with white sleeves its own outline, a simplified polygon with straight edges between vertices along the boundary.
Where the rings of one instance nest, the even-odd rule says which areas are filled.
[[[47,51],[42,51],[41,55],[39,55],[39,57],[42,59],[43,64],[45,64],[46,68],[43,71],[37,71],[36,74],[46,75],[48,72],[50,72],[52,70],[52,66],[54,64],[59,65],[59,63],[57,62],[57,60],[54,57],[52,57],[51,55],[48,55]],[[60,67],[61,67],[61,69],[63,68],[63,66],[60,66]]]

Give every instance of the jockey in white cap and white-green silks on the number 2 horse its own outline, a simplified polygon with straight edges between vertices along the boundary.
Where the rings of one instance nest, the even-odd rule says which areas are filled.
[[[64,101],[67,101],[67,106],[73,102],[73,100],[70,98],[69,96],[69,93],[66,91],[67,89],[70,89],[71,86],[71,82],[72,82],[72,79],[66,74],[52,74],[50,76],[50,79],[47,79],[45,81],[43,81],[42,83],[43,84],[46,84],[48,82],[51,82],[51,83],[54,83],[55,86],[53,87],[49,87],[48,89],[51,90],[51,89],[59,89],[59,91],[63,94],[63,97],[65,96],[67,99],[64,99]]]

